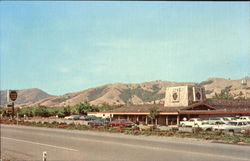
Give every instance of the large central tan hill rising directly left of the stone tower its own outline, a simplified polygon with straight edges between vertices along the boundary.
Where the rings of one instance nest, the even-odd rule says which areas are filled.
[[[154,81],[140,84],[107,84],[84,91],[69,93],[62,96],[46,98],[27,106],[73,106],[79,102],[93,105],[143,104],[161,100],[168,86],[193,85],[194,82]]]

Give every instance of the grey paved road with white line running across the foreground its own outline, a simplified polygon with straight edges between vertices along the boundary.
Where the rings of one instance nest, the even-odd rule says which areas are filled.
[[[47,151],[47,161],[250,161],[249,146],[14,125],[1,125],[1,145],[23,160]]]

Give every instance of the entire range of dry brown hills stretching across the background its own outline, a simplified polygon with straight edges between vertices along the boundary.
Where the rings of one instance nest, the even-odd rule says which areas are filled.
[[[212,98],[215,93],[220,93],[223,89],[229,89],[234,98],[244,97],[247,92],[249,98],[250,86],[243,87],[241,81],[242,79],[209,78],[199,83],[161,80],[136,84],[112,83],[61,96],[53,96],[40,89],[32,88],[18,90],[16,104],[18,106],[73,106],[86,101],[92,105],[164,103],[166,87],[182,85],[204,86],[207,98]],[[247,78],[247,81],[249,82],[250,78]],[[0,105],[3,106],[7,104],[7,92],[6,90],[1,90],[0,92]]]

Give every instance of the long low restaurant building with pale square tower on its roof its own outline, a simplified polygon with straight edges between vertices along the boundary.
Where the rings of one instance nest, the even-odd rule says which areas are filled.
[[[157,109],[155,123],[158,125],[179,125],[184,117],[250,116],[250,100],[206,99],[204,87],[199,86],[167,88],[164,104],[126,105],[89,114],[149,124],[148,116],[152,108]]]

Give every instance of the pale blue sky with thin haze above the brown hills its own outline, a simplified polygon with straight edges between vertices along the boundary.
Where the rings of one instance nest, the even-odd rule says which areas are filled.
[[[248,2],[0,2],[1,89],[240,79]]]

